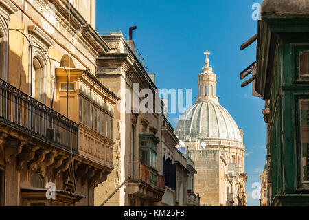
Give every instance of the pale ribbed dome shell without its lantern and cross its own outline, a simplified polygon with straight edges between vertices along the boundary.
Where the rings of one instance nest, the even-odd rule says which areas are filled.
[[[242,142],[240,130],[229,112],[218,102],[196,102],[175,129],[180,140],[233,140]]]

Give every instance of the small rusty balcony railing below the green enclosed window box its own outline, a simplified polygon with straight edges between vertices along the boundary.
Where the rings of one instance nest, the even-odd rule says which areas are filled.
[[[130,181],[144,181],[146,184],[165,190],[165,177],[152,172],[150,168],[141,162],[129,162],[128,173]]]

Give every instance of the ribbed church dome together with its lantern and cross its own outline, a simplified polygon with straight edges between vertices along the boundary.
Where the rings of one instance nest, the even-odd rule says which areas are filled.
[[[208,51],[203,72],[198,74],[196,103],[181,116],[175,134],[184,142],[200,141],[211,146],[243,147],[242,133],[216,96],[216,74],[209,66]]]

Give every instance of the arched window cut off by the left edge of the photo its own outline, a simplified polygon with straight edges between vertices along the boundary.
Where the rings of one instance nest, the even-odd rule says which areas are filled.
[[[8,68],[8,30],[0,17],[0,78],[7,80]]]

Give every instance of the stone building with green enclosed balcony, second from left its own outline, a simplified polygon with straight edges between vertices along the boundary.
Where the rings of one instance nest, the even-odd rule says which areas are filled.
[[[161,163],[162,102],[153,78],[135,55],[134,42],[126,41],[121,32],[101,37],[111,47],[111,52],[98,58],[96,76],[121,98],[121,102],[115,108],[115,169],[96,189],[95,205],[100,205],[126,182],[106,206],[154,206],[165,192]],[[146,107],[145,113],[139,109],[144,100],[143,89],[148,89],[149,96],[156,100]]]

